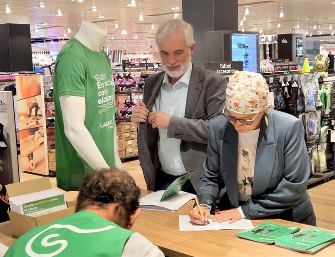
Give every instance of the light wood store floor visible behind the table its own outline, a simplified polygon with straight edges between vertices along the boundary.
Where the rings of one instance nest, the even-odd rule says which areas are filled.
[[[126,161],[124,166],[127,171],[134,177],[137,185],[142,189],[147,189],[144,181],[143,173],[139,165],[138,160]],[[39,175],[21,172],[20,169],[20,181],[30,180],[41,177]],[[53,188],[56,187],[56,178],[50,177],[51,185]],[[327,228],[335,230],[335,180],[331,180],[326,183],[319,184],[314,188],[308,190],[311,196],[315,214],[317,216],[317,225],[320,228]],[[60,190],[60,189],[58,189]],[[65,192],[67,200],[73,200],[77,192]]]

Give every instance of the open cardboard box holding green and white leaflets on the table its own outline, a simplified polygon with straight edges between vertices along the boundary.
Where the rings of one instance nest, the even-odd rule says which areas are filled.
[[[49,177],[42,177],[33,180],[18,182],[6,185],[9,197],[35,193],[43,190],[50,189],[51,183]],[[11,212],[11,232],[12,236],[19,237],[28,230],[40,226],[47,225],[50,222],[58,220],[64,216],[74,213],[74,202],[67,202],[68,209],[55,211],[38,217],[31,217],[16,212]]]

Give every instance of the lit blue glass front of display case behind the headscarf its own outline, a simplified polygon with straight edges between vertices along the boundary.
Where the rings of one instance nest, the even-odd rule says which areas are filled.
[[[232,34],[232,61],[243,61],[243,70],[258,71],[257,34]]]

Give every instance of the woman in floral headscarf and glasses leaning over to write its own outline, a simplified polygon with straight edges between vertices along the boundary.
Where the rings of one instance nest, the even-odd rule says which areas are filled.
[[[250,158],[248,177],[240,168],[243,149]],[[284,219],[316,225],[307,193],[310,166],[302,122],[268,108],[262,75],[237,71],[230,78],[224,111],[210,121],[207,152],[198,189],[205,220]],[[203,224],[198,208],[189,216]]]

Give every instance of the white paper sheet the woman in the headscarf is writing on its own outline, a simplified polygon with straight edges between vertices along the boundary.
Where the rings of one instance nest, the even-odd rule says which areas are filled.
[[[250,229],[253,228],[251,220],[238,220],[232,224],[229,221],[226,222],[214,222],[213,220],[208,221],[207,225],[195,225],[190,221],[190,218],[186,215],[179,216],[179,230],[180,231],[204,231],[204,230],[221,230],[221,229]]]

